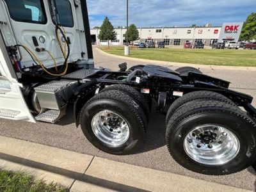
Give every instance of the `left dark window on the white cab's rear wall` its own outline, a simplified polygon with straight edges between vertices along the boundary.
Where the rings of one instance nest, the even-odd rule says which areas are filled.
[[[13,20],[36,24],[47,22],[42,0],[6,0],[6,4]]]

